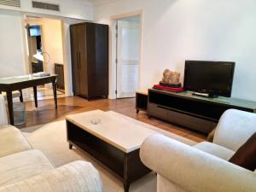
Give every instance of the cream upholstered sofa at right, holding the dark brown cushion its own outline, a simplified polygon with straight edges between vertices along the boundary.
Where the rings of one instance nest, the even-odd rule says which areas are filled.
[[[140,155],[157,172],[158,192],[255,192],[256,172],[228,162],[255,131],[256,114],[230,109],[219,120],[213,143],[190,147],[154,135]]]

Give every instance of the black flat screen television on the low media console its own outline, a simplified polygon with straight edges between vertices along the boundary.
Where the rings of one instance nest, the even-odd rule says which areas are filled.
[[[231,96],[235,62],[185,61],[184,90]]]

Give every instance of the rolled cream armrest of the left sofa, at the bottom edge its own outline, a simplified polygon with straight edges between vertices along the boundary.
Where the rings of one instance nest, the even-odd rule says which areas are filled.
[[[0,192],[102,192],[102,181],[94,166],[74,161],[53,171],[0,187]]]

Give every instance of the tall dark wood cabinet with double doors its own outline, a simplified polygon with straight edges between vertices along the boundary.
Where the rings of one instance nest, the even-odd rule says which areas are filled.
[[[87,99],[108,97],[108,26],[70,26],[73,93]]]

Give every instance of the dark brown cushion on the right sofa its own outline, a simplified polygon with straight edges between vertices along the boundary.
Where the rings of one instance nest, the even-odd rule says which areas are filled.
[[[230,163],[236,164],[254,172],[256,170],[256,132],[250,137],[241,148],[238,148]]]

